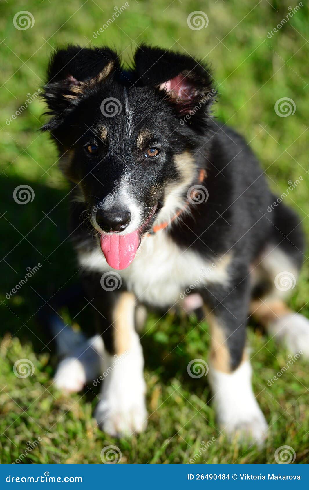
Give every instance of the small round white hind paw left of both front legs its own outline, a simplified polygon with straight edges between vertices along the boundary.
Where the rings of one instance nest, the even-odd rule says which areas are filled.
[[[86,383],[86,373],[81,362],[74,357],[61,361],[53,383],[58,390],[68,393],[80,392]]]

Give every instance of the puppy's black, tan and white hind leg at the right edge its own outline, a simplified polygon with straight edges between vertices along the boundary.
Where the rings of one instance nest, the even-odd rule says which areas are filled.
[[[275,211],[274,235],[253,266],[257,287],[250,313],[292,354],[309,357],[309,320],[286,305],[303,262],[302,232],[291,210]]]

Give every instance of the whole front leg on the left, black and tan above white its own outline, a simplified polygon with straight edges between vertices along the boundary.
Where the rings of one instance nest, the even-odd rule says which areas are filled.
[[[147,412],[143,352],[134,325],[135,297],[127,291],[98,294],[95,289],[92,304],[104,343],[95,417],[111,436],[139,433],[146,426]]]

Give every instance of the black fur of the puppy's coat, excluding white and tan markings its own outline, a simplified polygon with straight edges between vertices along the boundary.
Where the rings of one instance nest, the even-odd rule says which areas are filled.
[[[106,79],[85,87],[77,98],[64,97],[74,95],[74,86],[95,78],[111,61],[113,69]],[[175,77],[184,80],[184,98],[162,89],[162,84]],[[125,71],[110,49],[69,47],[57,51],[50,63],[44,97],[52,117],[44,128],[52,133],[60,155],[74,152],[64,172],[71,180],[72,196],[77,191],[81,195],[72,203],[71,214],[71,231],[79,252],[98,248],[98,234],[89,214],[93,208],[100,208],[125,172],[135,201],[143,210],[157,204],[159,218],[167,185],[181,183],[175,155],[184,151],[192,155],[192,183],[197,182],[200,169],[206,170],[203,184],[208,200],[191,205],[189,214],[181,215],[162,233],[169,234],[180,253],[190,247],[201,260],[212,261],[214,256],[232,252],[229,284],[209,285],[199,293],[226,326],[233,369],[239,365],[245,344],[252,295],[250,264],[265,245],[280,244],[299,268],[304,240],[298,218],[283,204],[267,213],[275,197],[243,138],[213,119],[214,95],[209,67],[190,56],[142,45],[134,66]],[[118,116],[103,115],[100,104],[105,98],[120,102],[122,112]],[[107,138],[102,138],[103,129]],[[138,148],[136,138],[141,131],[152,136],[145,147]],[[98,147],[96,155],[85,152],[90,144]],[[145,158],[149,147],[161,150],[155,160]],[[186,198],[185,190],[183,204]],[[120,291],[106,293],[100,287],[100,275],[84,275],[100,332],[112,351],[109,308]],[[187,286],[182,284],[181,288]],[[125,281],[122,288],[126,288]]]

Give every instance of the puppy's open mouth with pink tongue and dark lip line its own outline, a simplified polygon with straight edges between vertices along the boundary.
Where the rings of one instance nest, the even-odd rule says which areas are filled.
[[[148,218],[137,230],[131,233],[101,233],[101,249],[110,267],[117,270],[127,269],[129,267],[141,244],[142,235],[151,229],[155,221],[155,212],[158,208],[159,203],[156,203]]]

